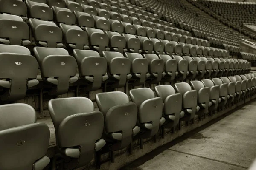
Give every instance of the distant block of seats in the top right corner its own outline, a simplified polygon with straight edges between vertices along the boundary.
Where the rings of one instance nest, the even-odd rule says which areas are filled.
[[[215,14],[212,14],[212,16],[220,18],[220,21],[225,25],[253,38],[242,26],[243,24],[256,24],[255,3],[234,1],[218,2],[212,0],[198,0],[196,3],[200,3],[214,12]]]

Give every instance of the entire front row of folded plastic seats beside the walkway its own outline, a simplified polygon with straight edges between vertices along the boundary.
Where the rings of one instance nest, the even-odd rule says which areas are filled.
[[[99,111],[85,97],[51,99],[48,108],[58,146],[54,161],[61,157],[65,169],[79,168],[104,146],[116,151],[129,147],[137,135],[150,138],[160,128],[175,132],[181,121],[189,124],[195,115],[201,120],[207,113],[255,95],[255,77],[256,73],[250,73],[175,83],[175,88],[158,85],[154,88],[157,97],[150,88],[132,89],[132,102],[123,92],[99,93]],[[35,110],[27,104],[1,105],[0,110],[0,169],[43,170],[50,161],[44,156],[49,144],[47,125],[36,123]]]

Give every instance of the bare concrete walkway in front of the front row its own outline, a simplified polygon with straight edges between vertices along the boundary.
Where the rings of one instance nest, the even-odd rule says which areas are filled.
[[[256,102],[192,133],[122,170],[247,170],[256,158]]]

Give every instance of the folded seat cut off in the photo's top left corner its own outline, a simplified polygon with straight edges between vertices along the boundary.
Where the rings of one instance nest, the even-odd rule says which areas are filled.
[[[27,7],[21,0],[1,0],[0,13],[17,15],[23,20],[27,20]]]

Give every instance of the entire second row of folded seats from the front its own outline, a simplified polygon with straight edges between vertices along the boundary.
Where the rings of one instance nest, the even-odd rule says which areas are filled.
[[[136,51],[135,51],[136,52]],[[49,94],[60,95],[79,78],[87,90],[99,89],[108,80],[113,88],[124,87],[126,82],[143,85],[160,81],[203,79],[244,74],[250,71],[250,62],[238,59],[190,57],[163,54],[139,54],[73,50],[71,56],[64,48],[35,47],[35,57],[28,48],[18,45],[0,45],[1,100],[15,101],[26,95],[28,88],[39,81],[51,85]],[[38,75],[38,65],[41,74]],[[77,66],[78,72],[77,73]],[[107,69],[108,67],[108,69]]]

